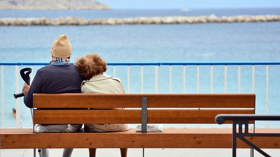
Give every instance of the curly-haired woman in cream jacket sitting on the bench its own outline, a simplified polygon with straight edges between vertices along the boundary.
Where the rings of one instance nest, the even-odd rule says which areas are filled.
[[[120,78],[107,74],[107,63],[98,55],[90,54],[77,60],[80,75],[85,79],[81,85],[82,93],[125,93]],[[108,132],[125,131],[132,127],[129,124],[85,124],[86,131]],[[120,148],[121,156],[127,156],[127,148]],[[89,148],[89,157],[95,157],[96,148]]]

